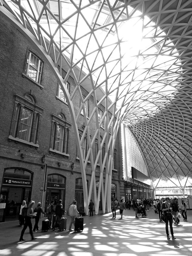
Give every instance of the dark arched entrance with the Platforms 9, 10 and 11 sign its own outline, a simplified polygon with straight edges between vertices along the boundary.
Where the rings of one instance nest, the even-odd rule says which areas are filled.
[[[17,219],[22,201],[31,201],[33,173],[24,168],[6,168],[0,194],[0,222]]]

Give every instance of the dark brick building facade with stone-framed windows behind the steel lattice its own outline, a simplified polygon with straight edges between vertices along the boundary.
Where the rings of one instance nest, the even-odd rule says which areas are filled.
[[[6,221],[17,216],[22,200],[40,201],[45,208],[51,199],[62,199],[65,210],[68,210],[68,204],[75,198],[79,209],[83,210],[81,170],[73,125],[58,81],[41,52],[1,16],[0,23],[0,200],[6,203],[5,210],[0,209],[0,221],[4,217]],[[75,88],[73,78],[69,77],[67,83],[71,95]],[[83,92],[86,97],[88,92]],[[72,102],[78,111],[80,98],[77,94]],[[87,111],[91,113],[93,107],[93,97],[90,96]],[[108,120],[111,115],[109,112]],[[77,126],[81,134],[83,115]],[[95,129],[92,122],[89,125],[92,135]],[[57,136],[58,131],[63,134],[62,141]],[[100,135],[104,135],[102,128]],[[84,146],[86,154],[86,141]],[[96,148],[95,145],[95,151]],[[120,198],[124,196],[120,131],[113,165],[111,197]],[[99,181],[99,171],[98,166],[96,182],[97,177]],[[88,163],[87,186],[91,173]]]

